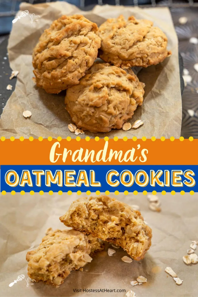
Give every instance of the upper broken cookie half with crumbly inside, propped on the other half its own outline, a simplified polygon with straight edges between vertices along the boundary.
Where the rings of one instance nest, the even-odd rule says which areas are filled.
[[[151,246],[152,230],[140,212],[107,196],[77,199],[60,220],[68,227],[121,246],[134,260],[143,259]]]

